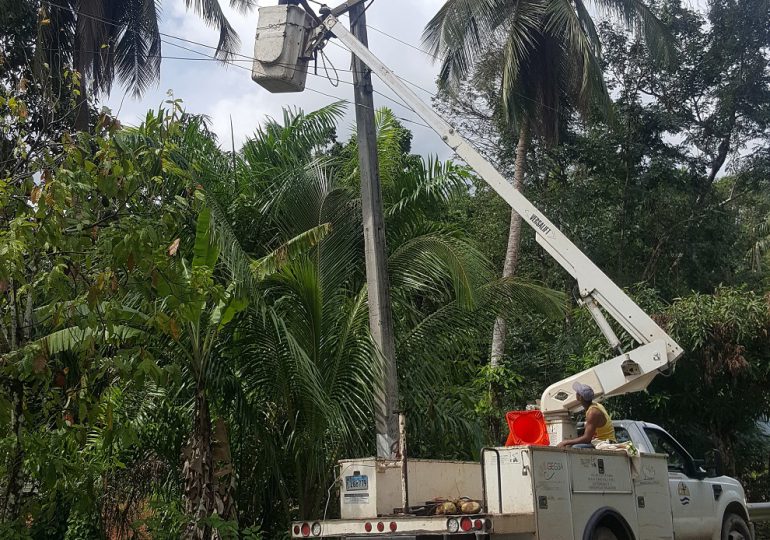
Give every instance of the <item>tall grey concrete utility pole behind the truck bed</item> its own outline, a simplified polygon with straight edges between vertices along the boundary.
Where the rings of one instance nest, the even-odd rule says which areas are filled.
[[[350,31],[361,43],[368,46],[365,11],[363,2],[357,2],[350,7]],[[358,159],[361,170],[361,206],[364,215],[369,328],[383,362],[384,380],[376,394],[377,457],[389,458],[393,454],[394,443],[398,441],[398,415],[394,412],[398,409],[396,346],[390,308],[372,74],[366,64],[355,55],[353,55],[353,83],[358,126]]]

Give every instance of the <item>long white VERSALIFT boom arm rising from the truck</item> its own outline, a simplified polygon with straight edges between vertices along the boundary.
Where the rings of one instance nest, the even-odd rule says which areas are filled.
[[[681,356],[682,349],[540,210],[514,189],[468,141],[345,28],[337,17],[357,1],[360,0],[345,2],[334,9],[322,8],[320,19],[323,26],[318,26],[312,31],[306,52],[311,52],[323,46],[326,40],[336,37],[369,66],[373,73],[534,229],[537,242],[575,278],[581,301],[590,311],[610,346],[618,353],[614,358],[551,385],[543,393],[540,409],[549,425],[552,442],[574,436],[574,423],[570,421],[569,415],[580,408],[572,389],[575,381],[593,387],[597,399],[644,390],[658,373],[673,367]],[[620,340],[605,318],[605,312],[639,344],[637,348],[622,351]]]

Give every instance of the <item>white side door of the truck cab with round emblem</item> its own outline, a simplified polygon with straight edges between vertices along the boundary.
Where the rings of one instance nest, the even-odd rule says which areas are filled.
[[[695,477],[692,458],[668,433],[653,428],[644,428],[644,432],[655,453],[668,456],[668,485],[676,539],[711,538],[717,526],[711,486]]]

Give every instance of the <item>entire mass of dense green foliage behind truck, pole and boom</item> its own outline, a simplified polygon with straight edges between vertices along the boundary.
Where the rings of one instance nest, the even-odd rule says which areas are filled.
[[[696,457],[716,448],[767,498],[770,14],[656,9],[687,61],[663,69],[600,26],[613,121],[565,111],[557,146],[534,141],[525,189],[686,351],[608,405]],[[0,536],[280,538],[290,519],[336,515],[335,462],[374,451],[380,366],[344,106],[287,109],[235,152],[174,101],[138,127],[101,114],[73,132],[71,58],[36,71],[23,47],[46,25],[9,13]],[[438,106],[510,172],[518,133],[480,65]],[[490,417],[612,353],[531,232],[519,277],[496,277],[510,210],[471,171],[413,155],[387,110],[377,136],[410,453],[475,459],[500,442]]]

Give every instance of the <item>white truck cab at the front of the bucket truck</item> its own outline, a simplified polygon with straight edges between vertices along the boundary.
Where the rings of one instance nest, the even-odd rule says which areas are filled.
[[[674,534],[680,539],[754,538],[746,497],[734,478],[709,474],[662,427],[636,420],[614,421],[619,443],[631,441],[642,454],[667,456]]]

